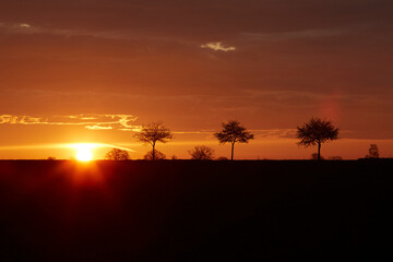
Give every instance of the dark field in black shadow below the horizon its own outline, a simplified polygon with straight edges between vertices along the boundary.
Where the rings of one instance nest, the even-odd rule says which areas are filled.
[[[392,164],[0,162],[0,260],[391,261]]]

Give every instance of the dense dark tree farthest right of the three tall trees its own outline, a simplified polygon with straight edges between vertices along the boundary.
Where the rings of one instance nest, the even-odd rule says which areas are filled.
[[[335,128],[331,120],[311,118],[309,122],[297,128],[297,138],[300,139],[298,145],[305,147],[318,146],[318,160],[321,159],[321,145],[325,142],[338,139],[338,129]]]

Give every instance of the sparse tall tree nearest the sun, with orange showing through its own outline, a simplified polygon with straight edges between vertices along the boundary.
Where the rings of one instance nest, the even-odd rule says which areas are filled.
[[[145,126],[142,126],[142,129],[139,133],[134,135],[139,141],[143,143],[148,143],[153,146],[152,150],[152,160],[155,157],[155,145],[157,142],[166,143],[168,140],[172,139],[170,130],[165,128],[162,122],[152,122]]]

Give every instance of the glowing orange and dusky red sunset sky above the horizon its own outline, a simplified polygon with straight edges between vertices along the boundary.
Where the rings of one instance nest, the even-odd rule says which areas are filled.
[[[168,157],[236,119],[238,159],[309,158],[296,128],[331,119],[322,155],[393,154],[393,2],[385,0],[2,0],[0,158],[70,158],[70,143],[142,157],[163,121]]]

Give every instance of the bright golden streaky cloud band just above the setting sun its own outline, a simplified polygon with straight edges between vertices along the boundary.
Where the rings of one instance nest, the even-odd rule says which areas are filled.
[[[141,127],[133,124],[135,120],[136,117],[132,115],[73,115],[52,117],[0,116],[0,124],[81,126],[88,130],[138,131]]]

